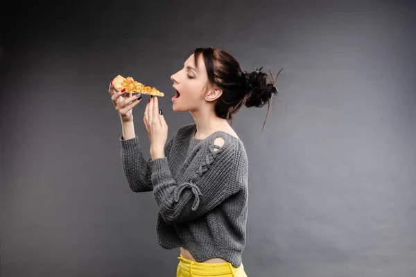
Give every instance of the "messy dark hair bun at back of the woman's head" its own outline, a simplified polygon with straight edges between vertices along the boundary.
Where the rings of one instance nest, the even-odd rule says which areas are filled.
[[[245,73],[248,82],[247,96],[244,102],[245,107],[263,107],[274,94],[276,95],[279,92],[275,83],[282,69],[275,78],[273,78],[272,73],[269,76],[261,69],[263,67],[256,69],[252,73]]]

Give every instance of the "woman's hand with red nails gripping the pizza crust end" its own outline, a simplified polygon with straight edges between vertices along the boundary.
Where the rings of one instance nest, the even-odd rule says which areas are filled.
[[[108,88],[108,93],[110,93],[114,108],[120,115],[121,122],[129,122],[133,120],[132,109],[139,104],[141,95],[140,93],[136,93],[135,96],[132,96],[132,93],[125,93],[125,97],[123,97],[121,95],[124,91],[125,89],[116,91],[113,82],[110,83],[110,87]]]

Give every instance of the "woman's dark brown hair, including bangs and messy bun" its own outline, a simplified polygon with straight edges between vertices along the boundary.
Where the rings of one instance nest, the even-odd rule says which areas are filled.
[[[193,54],[196,67],[198,67],[198,57],[202,54],[209,83],[215,84],[223,90],[223,94],[214,106],[216,115],[232,120],[232,116],[239,111],[242,105],[263,107],[268,103],[267,115],[263,123],[264,128],[270,111],[270,100],[278,93],[275,85],[277,77],[283,69],[273,78],[270,71],[270,77],[261,71],[263,67],[251,73],[243,71],[234,56],[220,48],[196,48]]]

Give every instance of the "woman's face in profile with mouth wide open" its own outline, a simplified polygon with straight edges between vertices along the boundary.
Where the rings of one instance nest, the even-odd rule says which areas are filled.
[[[195,68],[194,55],[184,62],[184,67],[171,75],[174,111],[194,111],[205,103],[204,96],[208,83],[207,69],[202,55],[199,55],[198,68]]]

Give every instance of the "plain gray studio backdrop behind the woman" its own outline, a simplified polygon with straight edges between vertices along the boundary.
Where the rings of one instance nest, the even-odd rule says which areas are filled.
[[[289,3],[288,3],[289,2]],[[284,70],[234,127],[248,152],[248,276],[416,276],[413,1],[131,1],[36,6],[1,24],[1,276],[175,276],[157,204],[120,161],[107,87],[166,93],[198,46]],[[137,135],[148,153],[142,114]]]

